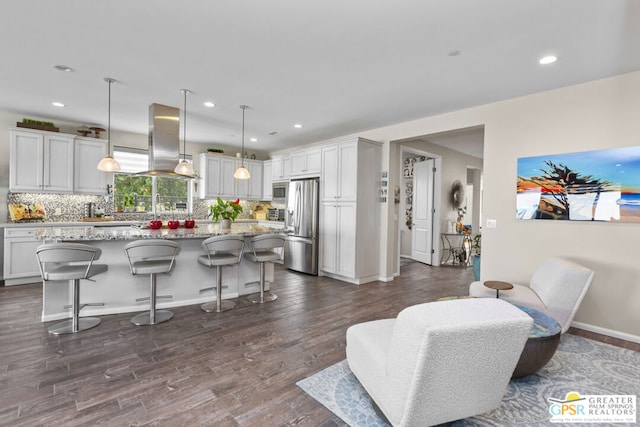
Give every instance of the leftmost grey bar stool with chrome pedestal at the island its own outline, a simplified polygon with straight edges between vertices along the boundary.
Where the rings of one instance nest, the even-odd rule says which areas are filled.
[[[73,301],[70,306],[72,317],[49,327],[54,335],[75,334],[100,324],[97,317],[80,318],[80,310],[86,306],[101,306],[102,303],[80,304],[80,280],[90,280],[96,274],[107,271],[108,266],[94,264],[102,250],[82,243],[48,243],[36,249],[42,285],[52,280],[69,280],[73,284]]]

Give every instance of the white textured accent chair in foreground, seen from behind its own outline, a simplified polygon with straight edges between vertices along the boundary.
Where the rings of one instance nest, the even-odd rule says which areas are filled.
[[[495,298],[414,305],[351,326],[347,361],[391,425],[446,423],[500,405],[532,323]]]

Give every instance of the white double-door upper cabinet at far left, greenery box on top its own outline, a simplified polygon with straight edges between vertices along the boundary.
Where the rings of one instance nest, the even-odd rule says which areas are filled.
[[[73,141],[68,134],[11,130],[9,190],[72,193]]]

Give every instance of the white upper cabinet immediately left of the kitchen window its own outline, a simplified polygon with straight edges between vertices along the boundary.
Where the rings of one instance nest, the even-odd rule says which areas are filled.
[[[106,173],[96,167],[107,154],[107,141],[96,138],[78,138],[74,143],[75,193],[103,195],[106,190]]]

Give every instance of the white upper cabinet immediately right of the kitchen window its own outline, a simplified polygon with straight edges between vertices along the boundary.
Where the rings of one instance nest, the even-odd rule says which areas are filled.
[[[201,199],[216,197],[235,197],[235,158],[216,154],[200,154],[200,185],[198,194]]]

